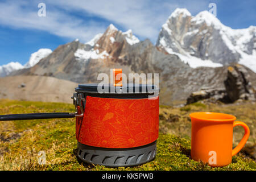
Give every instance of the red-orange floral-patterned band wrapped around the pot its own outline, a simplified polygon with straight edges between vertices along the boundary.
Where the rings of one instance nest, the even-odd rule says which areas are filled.
[[[158,138],[159,96],[154,99],[86,97],[76,118],[76,139],[94,147],[131,148]]]

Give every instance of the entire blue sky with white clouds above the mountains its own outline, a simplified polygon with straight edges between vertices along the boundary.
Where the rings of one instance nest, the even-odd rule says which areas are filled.
[[[46,17],[38,16],[41,2],[46,4]],[[110,23],[155,43],[162,24],[177,7],[196,15],[209,10],[209,3],[216,3],[217,18],[226,26],[256,26],[255,0],[0,0],[0,65],[10,61],[24,64],[39,48],[54,50],[76,38],[85,43]]]

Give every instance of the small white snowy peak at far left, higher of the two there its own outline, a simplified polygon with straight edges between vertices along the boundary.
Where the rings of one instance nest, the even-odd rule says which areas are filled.
[[[52,53],[52,50],[48,48],[41,48],[38,51],[32,53],[30,60],[24,65],[24,68],[34,67],[34,65],[36,65],[44,57],[47,57],[50,53]]]

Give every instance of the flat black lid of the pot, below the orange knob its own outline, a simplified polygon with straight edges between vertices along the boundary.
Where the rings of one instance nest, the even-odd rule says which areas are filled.
[[[75,90],[76,92],[82,93],[153,93],[159,92],[159,89],[155,85],[146,84],[127,84],[123,86],[113,86],[113,85],[102,85],[100,92],[98,92],[99,84],[80,84]]]

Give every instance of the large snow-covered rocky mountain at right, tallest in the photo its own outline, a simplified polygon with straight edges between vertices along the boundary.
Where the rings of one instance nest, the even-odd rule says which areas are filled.
[[[192,16],[176,9],[163,24],[156,47],[193,68],[240,63],[256,72],[256,27],[233,30],[208,11]]]

